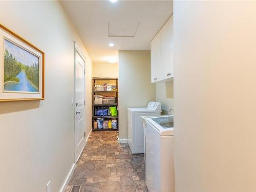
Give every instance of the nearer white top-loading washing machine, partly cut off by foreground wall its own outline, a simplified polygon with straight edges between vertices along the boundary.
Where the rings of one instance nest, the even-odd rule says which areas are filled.
[[[146,186],[149,192],[174,192],[174,117],[146,119]]]

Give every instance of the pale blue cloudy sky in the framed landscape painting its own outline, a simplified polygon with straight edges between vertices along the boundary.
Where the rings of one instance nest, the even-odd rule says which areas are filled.
[[[23,48],[16,46],[7,39],[5,39],[5,49],[7,49],[9,53],[15,56],[17,61],[23,63],[26,66],[33,66],[34,63],[39,63],[39,57],[33,55]]]

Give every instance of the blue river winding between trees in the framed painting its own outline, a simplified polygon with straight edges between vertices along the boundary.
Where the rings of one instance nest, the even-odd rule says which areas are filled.
[[[27,79],[27,75],[24,71],[21,71],[16,77],[19,78],[19,82],[6,82],[5,91],[38,92],[38,89]]]

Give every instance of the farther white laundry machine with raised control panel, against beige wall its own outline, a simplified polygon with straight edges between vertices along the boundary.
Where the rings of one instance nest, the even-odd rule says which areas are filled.
[[[144,153],[144,133],[141,116],[161,114],[161,103],[151,101],[145,108],[127,108],[127,143],[132,154]]]

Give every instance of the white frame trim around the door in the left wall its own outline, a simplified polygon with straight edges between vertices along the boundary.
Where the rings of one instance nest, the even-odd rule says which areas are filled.
[[[83,108],[83,121],[84,121],[84,146],[86,144],[86,127],[85,127],[85,117],[86,117],[86,57],[84,56],[83,52],[77,45],[76,41],[74,42],[74,102],[73,102],[73,113],[74,113],[74,163],[77,162],[78,158],[81,154],[79,154],[79,157],[76,159],[76,52],[81,56],[81,58],[84,61],[84,108]],[[83,146],[83,147],[84,147]]]

